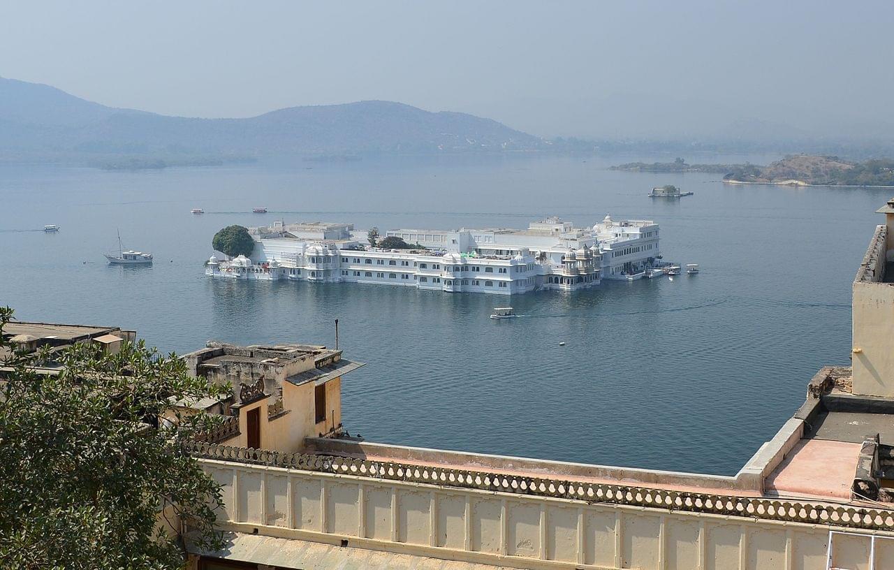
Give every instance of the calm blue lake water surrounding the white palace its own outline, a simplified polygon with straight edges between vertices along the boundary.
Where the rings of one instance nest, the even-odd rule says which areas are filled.
[[[638,158],[163,172],[2,165],[0,303],[23,320],[133,328],[177,352],[207,339],[331,345],[338,318],[346,356],[367,363],[345,378],[343,417],[369,440],[734,474],[821,365],[847,364],[850,281],[890,190],[606,170]],[[660,184],[696,194],[645,196]],[[254,206],[270,213],[250,214]],[[524,317],[507,322],[487,318],[506,304],[498,296],[203,273],[212,236],[231,223],[520,228],[547,214],[654,219],[665,258],[703,272],[513,297]],[[62,231],[39,231],[47,223]],[[125,247],[152,251],[155,266],[107,266],[116,229]]]

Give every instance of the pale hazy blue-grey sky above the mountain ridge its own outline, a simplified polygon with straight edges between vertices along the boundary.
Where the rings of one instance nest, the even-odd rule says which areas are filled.
[[[890,130],[894,2],[6,2],[0,76],[237,117],[387,99],[544,135]]]

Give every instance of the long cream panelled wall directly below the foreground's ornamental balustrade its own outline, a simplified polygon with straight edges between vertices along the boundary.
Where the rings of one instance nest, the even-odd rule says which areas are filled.
[[[525,568],[821,570],[830,526],[199,459],[240,532]],[[869,531],[833,566],[868,568]],[[894,541],[875,568],[894,569]]]

